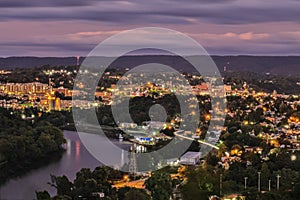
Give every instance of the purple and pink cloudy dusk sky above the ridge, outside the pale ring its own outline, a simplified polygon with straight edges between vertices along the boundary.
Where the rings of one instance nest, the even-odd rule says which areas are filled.
[[[85,56],[141,27],[180,31],[211,55],[300,55],[299,0],[1,0],[0,57]]]

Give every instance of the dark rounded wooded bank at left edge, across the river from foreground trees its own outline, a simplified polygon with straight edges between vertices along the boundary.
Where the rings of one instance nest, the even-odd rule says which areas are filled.
[[[19,112],[0,109],[0,184],[59,158],[62,131],[44,120],[22,119]]]

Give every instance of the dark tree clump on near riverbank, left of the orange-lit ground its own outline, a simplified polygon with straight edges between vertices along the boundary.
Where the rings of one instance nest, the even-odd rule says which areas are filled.
[[[48,196],[47,191],[37,192],[37,199],[117,199],[117,190],[112,187],[112,181],[123,178],[122,172],[109,167],[97,167],[94,171],[81,169],[71,182],[66,176],[51,175],[49,184],[56,188],[54,197]],[[128,191],[126,191],[127,193]],[[124,194],[126,196],[126,193]],[[131,194],[127,194],[131,195]],[[139,194],[132,194],[139,195]]]

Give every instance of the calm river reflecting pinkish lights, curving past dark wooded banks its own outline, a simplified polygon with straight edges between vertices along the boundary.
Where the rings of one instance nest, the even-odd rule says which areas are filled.
[[[90,168],[93,170],[95,167],[100,166],[101,163],[96,160],[82,144],[78,133],[73,131],[64,131],[64,136],[67,140],[66,152],[62,158],[47,166],[35,169],[25,174],[22,177],[11,179],[0,188],[0,200],[29,200],[35,199],[35,191],[47,190],[51,195],[55,194],[55,189],[48,185],[50,182],[50,174],[61,176],[66,175],[69,180],[74,180],[76,172],[82,168]],[[93,136],[95,137],[95,136]],[[98,137],[98,136],[96,136]],[[99,152],[106,152],[106,141],[97,145]],[[117,146],[123,149],[129,149],[130,144],[113,141]],[[126,152],[126,151],[125,151]],[[112,159],[122,166],[124,162],[128,162],[127,156],[124,154],[112,154]],[[0,172],[1,173],[1,172]]]

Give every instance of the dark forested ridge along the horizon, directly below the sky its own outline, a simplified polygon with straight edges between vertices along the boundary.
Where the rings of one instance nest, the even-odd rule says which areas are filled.
[[[137,55],[134,59],[137,63],[140,59],[149,59],[162,55],[145,56]],[[162,56],[164,60],[172,56]],[[166,58],[167,57],[167,58]],[[228,71],[251,71],[256,73],[271,73],[273,75],[300,75],[300,56],[212,56],[213,60],[223,71],[226,66]],[[80,63],[84,57],[80,58]],[[157,59],[157,58],[156,58]],[[76,65],[76,57],[8,57],[0,58],[0,69],[33,68],[44,65],[71,66]],[[128,64],[125,62],[125,65]],[[130,63],[132,65],[132,63]],[[123,65],[122,67],[126,67]],[[178,68],[178,66],[180,66]],[[177,70],[185,71],[188,67],[177,65]]]

